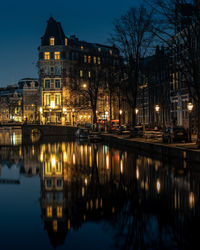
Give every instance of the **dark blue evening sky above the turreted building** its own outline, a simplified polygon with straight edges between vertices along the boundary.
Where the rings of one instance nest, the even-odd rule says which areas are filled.
[[[37,77],[37,47],[52,15],[65,35],[106,43],[113,20],[142,0],[3,0],[0,6],[0,86]]]

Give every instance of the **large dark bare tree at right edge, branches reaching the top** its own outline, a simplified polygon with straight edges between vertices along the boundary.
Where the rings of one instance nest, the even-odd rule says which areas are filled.
[[[177,80],[186,85],[194,101],[200,145],[200,1],[146,2],[157,11],[159,25],[154,30],[171,52],[171,73],[179,74]]]

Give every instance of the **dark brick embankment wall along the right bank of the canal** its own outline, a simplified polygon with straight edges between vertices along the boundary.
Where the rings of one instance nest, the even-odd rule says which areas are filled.
[[[147,140],[144,138],[129,138],[127,135],[103,134],[104,142],[136,149],[162,158],[180,158],[183,160],[200,163],[200,149],[195,142],[192,143],[162,143],[161,140]]]

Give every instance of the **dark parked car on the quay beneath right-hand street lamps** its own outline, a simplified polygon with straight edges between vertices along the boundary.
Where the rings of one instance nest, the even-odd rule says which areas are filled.
[[[188,142],[188,133],[184,127],[175,127],[171,128],[168,127],[163,132],[163,142],[181,142],[185,141]]]

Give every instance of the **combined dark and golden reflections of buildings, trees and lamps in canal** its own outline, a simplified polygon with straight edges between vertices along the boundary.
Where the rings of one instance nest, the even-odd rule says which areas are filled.
[[[21,175],[39,175],[41,218],[53,247],[90,222],[106,225],[114,249],[192,249],[198,242],[200,176],[183,162],[76,142],[0,151],[1,168],[14,162]]]

